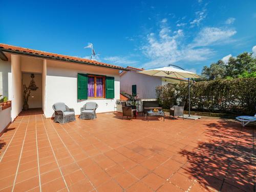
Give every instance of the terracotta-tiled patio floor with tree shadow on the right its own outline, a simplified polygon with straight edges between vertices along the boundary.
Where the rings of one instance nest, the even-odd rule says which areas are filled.
[[[252,125],[97,116],[18,116],[0,138],[0,191],[253,191]]]

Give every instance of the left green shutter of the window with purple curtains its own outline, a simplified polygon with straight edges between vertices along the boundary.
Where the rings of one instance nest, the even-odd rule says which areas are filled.
[[[87,74],[77,74],[77,99],[87,99],[88,98],[88,82]]]

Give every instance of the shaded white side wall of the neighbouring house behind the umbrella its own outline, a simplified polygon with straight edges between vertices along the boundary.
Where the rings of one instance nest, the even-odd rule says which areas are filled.
[[[156,87],[161,86],[161,77],[136,73],[136,71],[126,71],[120,76],[120,90],[132,94],[132,85],[137,85],[137,95],[140,99],[156,98]]]

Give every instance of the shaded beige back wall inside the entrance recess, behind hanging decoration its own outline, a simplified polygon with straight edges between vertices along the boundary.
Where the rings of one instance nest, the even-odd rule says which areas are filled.
[[[34,81],[38,89],[36,91],[31,91],[30,93],[30,97],[28,101],[29,109],[42,107],[42,76],[41,74],[34,74],[34,76],[35,76]],[[30,73],[23,74],[23,84],[26,84],[27,87],[29,87],[29,83],[31,79],[32,78]]]

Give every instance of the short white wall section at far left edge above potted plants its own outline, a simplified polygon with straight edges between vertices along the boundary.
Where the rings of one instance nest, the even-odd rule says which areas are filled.
[[[7,96],[9,95],[9,76],[11,75],[11,61],[3,61],[0,59],[0,95]]]

